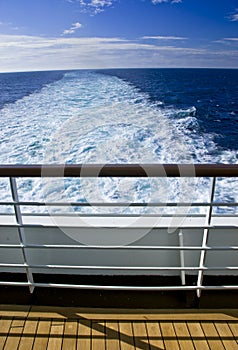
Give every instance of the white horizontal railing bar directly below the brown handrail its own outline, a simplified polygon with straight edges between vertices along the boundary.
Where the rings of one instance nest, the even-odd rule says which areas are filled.
[[[237,207],[237,202],[155,202],[155,203],[79,203],[79,202],[0,202],[0,205],[21,205],[21,206],[49,206],[49,207]]]

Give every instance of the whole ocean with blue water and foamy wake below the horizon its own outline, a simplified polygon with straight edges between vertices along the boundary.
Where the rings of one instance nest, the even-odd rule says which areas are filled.
[[[238,70],[230,69],[0,74],[0,162],[235,164],[237,97]],[[20,199],[145,203],[209,193],[208,179],[60,181],[18,180]],[[237,188],[237,180],[219,179],[216,200],[238,201]],[[0,193],[10,200],[7,179]]]

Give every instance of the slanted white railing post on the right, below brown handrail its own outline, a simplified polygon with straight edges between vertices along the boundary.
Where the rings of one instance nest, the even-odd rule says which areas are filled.
[[[215,187],[216,187],[216,178],[212,177],[211,178],[211,185],[210,185],[210,195],[209,195],[209,200],[210,204],[208,206],[207,214],[206,214],[206,220],[205,220],[205,225],[209,226],[211,224],[211,219],[212,219],[212,209],[213,209],[213,200],[214,200],[214,195],[215,195]],[[203,268],[205,266],[205,259],[206,259],[206,246],[208,242],[208,235],[209,235],[209,228],[205,228],[203,231],[203,239],[202,239],[202,248],[201,248],[201,255],[200,255],[200,261],[199,261],[199,268]],[[202,286],[203,282],[203,275],[204,275],[204,270],[199,270],[198,271],[198,279],[197,279],[197,287]],[[201,296],[201,289],[197,289],[197,296],[200,298]]]

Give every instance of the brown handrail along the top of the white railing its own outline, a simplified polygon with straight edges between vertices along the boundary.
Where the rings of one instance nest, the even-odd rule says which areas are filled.
[[[238,164],[16,164],[0,177],[238,177]]]

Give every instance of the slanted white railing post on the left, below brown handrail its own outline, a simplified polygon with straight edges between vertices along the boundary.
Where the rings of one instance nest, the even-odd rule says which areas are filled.
[[[15,211],[16,222],[19,225],[18,235],[19,235],[20,245],[21,245],[21,249],[22,249],[22,255],[23,255],[24,264],[26,264],[27,280],[28,280],[28,283],[30,283],[30,286],[29,286],[30,292],[33,293],[34,288],[35,288],[34,287],[34,280],[33,280],[33,274],[31,272],[31,269],[28,267],[29,259],[28,259],[27,251],[26,251],[26,236],[25,236],[25,230],[22,227],[23,220],[22,220],[21,208],[20,208],[20,205],[18,204],[19,198],[18,198],[18,192],[17,192],[17,183],[16,183],[16,179],[14,177],[10,177],[9,179],[10,179],[12,199],[14,201],[14,211]]]

